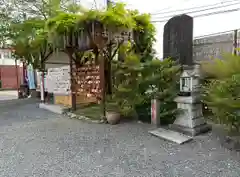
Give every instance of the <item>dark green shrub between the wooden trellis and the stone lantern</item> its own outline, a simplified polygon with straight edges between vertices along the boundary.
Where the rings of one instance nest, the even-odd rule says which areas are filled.
[[[138,59],[138,60],[137,60]],[[140,62],[134,55],[127,56],[124,63],[114,65],[113,100],[125,115],[144,110],[150,113],[151,99],[161,102],[161,120],[170,123],[176,113],[173,99],[177,95],[176,83],[179,67],[171,60]]]

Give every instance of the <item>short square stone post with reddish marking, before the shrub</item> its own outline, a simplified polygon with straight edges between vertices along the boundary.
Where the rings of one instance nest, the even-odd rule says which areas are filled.
[[[155,125],[156,127],[160,126],[159,106],[160,103],[158,99],[151,100],[151,124]]]

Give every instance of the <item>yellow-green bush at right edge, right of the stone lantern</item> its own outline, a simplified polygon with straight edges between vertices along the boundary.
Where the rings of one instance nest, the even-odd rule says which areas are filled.
[[[203,64],[210,79],[203,87],[203,99],[214,115],[214,121],[240,130],[240,57],[225,55]]]

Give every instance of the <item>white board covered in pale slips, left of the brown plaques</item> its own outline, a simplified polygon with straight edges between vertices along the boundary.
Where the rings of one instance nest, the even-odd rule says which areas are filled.
[[[71,93],[70,79],[70,66],[49,68],[46,79],[46,87],[48,92],[69,95]]]

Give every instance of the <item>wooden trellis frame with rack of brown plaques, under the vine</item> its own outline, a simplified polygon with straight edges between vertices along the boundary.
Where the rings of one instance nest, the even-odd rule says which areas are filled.
[[[121,41],[131,40],[131,30],[111,31],[97,21],[86,24],[85,28],[72,33],[65,33],[57,38],[56,44],[61,44],[67,52],[70,63],[71,76],[71,102],[72,108],[76,109],[76,104],[97,102],[101,100],[105,105],[105,60],[104,48],[109,44],[118,44]],[[60,42],[61,41],[61,42]],[[85,65],[78,67],[74,62],[73,54],[92,50],[99,61],[99,65]],[[105,114],[105,108],[103,112]]]

